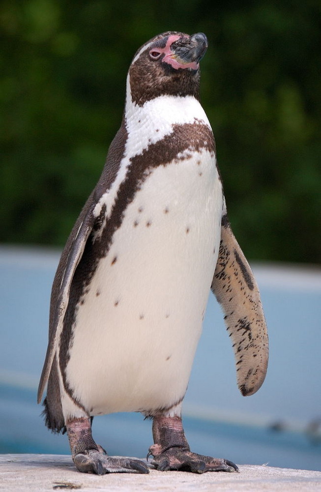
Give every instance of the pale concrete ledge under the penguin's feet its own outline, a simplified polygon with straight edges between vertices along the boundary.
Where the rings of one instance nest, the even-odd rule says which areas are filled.
[[[159,472],[149,475],[115,473],[98,477],[79,473],[62,455],[0,455],[1,491],[81,492],[221,492],[321,491],[321,472],[241,465],[240,473]]]

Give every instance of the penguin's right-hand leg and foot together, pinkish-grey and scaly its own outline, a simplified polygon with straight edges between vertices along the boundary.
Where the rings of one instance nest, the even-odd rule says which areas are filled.
[[[192,453],[179,416],[154,417],[153,437],[155,444],[150,446],[148,454],[154,457],[151,464],[159,471],[238,472],[236,464],[232,461]]]

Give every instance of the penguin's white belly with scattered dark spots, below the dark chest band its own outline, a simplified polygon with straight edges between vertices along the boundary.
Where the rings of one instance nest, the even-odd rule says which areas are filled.
[[[141,184],[76,307],[65,377],[89,415],[170,408],[184,397],[221,213],[208,151],[159,166]]]

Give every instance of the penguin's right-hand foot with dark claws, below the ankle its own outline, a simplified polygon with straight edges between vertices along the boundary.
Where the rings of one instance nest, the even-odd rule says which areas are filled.
[[[152,448],[153,446],[149,448],[151,454],[153,454]],[[232,461],[198,455],[179,448],[170,448],[154,456],[151,464],[159,471],[179,470],[192,473],[205,473],[206,471],[238,472],[236,464]]]

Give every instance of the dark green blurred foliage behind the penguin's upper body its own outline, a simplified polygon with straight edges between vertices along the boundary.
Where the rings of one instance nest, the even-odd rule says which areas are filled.
[[[201,96],[250,259],[321,262],[321,3],[4,0],[0,241],[63,245],[121,122],[135,51],[203,31]]]

